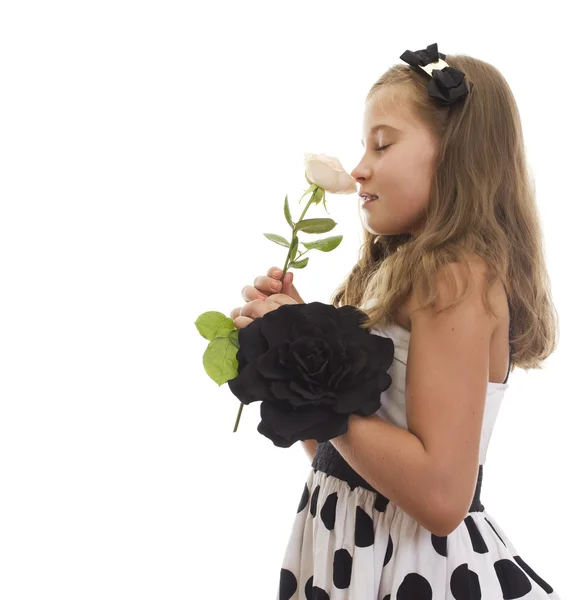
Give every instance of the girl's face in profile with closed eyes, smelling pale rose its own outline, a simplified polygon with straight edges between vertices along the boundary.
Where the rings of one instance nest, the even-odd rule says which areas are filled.
[[[364,155],[351,175],[359,192],[378,196],[362,208],[364,228],[373,234],[414,233],[429,200],[439,141],[405,106],[392,102],[394,91],[379,89],[364,111]],[[405,104],[405,103],[402,103]]]

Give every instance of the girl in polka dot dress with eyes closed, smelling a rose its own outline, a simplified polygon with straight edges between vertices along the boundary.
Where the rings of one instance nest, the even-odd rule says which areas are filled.
[[[393,339],[392,385],[375,415],[303,442],[278,600],[559,600],[480,502],[512,362],[556,349],[518,109],[485,62],[437,44],[401,58],[366,99],[364,243],[332,299]],[[281,274],[243,289],[236,327],[303,302]]]

